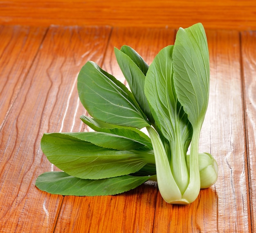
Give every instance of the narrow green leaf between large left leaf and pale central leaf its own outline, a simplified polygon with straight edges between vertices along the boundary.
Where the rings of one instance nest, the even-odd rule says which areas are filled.
[[[141,110],[146,114],[148,119],[153,121],[152,114],[150,112],[148,101],[144,93],[145,75],[140,68],[132,61],[132,59],[123,53],[121,50],[115,48],[115,55],[119,67],[129,84],[130,90],[134,95]]]

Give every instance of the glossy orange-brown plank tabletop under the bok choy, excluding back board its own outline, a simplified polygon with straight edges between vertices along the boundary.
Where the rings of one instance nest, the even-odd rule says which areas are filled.
[[[151,63],[175,29],[0,26],[0,232],[255,232],[256,32],[207,30],[210,99],[200,151],[219,165],[215,185],[189,205],[167,204],[148,182],[115,196],[51,195],[38,175],[58,170],[40,149],[44,132],[86,130],[79,70],[97,62],[119,80],[113,47]]]

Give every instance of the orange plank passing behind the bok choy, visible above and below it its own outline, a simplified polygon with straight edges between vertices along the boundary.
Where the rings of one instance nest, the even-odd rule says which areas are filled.
[[[102,68],[124,82],[114,46],[127,44],[151,63],[160,49],[173,40],[174,30],[170,29],[115,28]],[[115,196],[65,197],[55,232],[152,232],[156,196],[155,182],[147,182]]]

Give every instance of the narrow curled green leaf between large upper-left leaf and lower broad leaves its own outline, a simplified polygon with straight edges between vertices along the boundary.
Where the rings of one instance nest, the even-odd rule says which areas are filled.
[[[97,119],[92,119],[88,116],[80,116],[80,119],[88,125],[90,128],[97,132],[105,132],[110,134],[116,134],[130,138],[136,142],[143,144],[148,149],[153,149],[150,138],[134,127],[125,127],[119,125],[112,125]]]

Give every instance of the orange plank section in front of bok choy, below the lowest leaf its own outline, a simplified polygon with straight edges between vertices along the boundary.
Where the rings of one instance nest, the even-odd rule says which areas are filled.
[[[152,232],[156,191],[154,182],[116,196],[65,197],[55,232]]]

